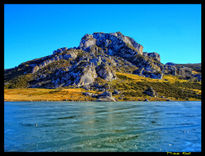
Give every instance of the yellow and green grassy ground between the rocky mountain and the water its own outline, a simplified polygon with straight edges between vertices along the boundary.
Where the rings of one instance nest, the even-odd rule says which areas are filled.
[[[201,83],[180,80],[175,76],[164,75],[162,80],[145,78],[134,74],[117,72],[117,79],[108,84],[111,88],[108,91],[117,89],[119,95],[114,97],[118,101],[138,101],[147,98],[150,101],[170,100],[201,100]],[[100,83],[100,80],[98,80]],[[102,83],[105,83],[102,80]],[[143,91],[151,86],[158,94],[157,97],[150,97],[143,94]],[[95,98],[84,96],[83,92],[100,93],[97,91],[87,91],[82,88],[22,88],[5,89],[5,101],[93,101]],[[163,96],[163,97],[162,97]]]

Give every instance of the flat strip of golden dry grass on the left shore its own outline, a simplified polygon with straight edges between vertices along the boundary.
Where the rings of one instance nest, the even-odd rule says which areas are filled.
[[[4,101],[92,101],[84,96],[82,88],[76,89],[5,89]]]

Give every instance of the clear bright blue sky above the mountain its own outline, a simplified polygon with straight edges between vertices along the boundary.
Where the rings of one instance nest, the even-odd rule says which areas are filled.
[[[93,32],[132,37],[162,63],[201,62],[200,4],[5,4],[4,68],[78,46]]]

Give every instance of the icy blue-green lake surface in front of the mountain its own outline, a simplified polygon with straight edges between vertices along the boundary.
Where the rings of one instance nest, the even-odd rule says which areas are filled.
[[[201,102],[5,102],[4,151],[201,152]]]

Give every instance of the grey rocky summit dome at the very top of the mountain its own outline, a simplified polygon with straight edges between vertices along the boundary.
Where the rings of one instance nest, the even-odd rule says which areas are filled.
[[[79,48],[89,51],[89,47],[97,45],[106,51],[109,55],[124,56],[125,50],[134,54],[142,54],[143,46],[136,43],[132,38],[117,33],[93,33],[92,35],[86,34],[80,42]]]

